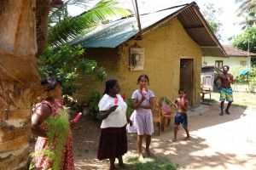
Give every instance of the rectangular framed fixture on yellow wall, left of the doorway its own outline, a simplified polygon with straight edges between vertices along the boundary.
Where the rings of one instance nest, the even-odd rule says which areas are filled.
[[[142,71],[144,67],[144,48],[130,48],[131,71]]]

